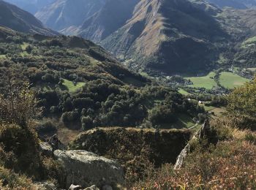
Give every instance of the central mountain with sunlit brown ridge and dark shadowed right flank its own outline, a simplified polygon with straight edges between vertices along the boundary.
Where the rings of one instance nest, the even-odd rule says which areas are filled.
[[[212,16],[220,10],[207,6],[211,12],[187,0],[110,0],[75,34],[101,42],[116,56],[128,59],[133,69],[198,71],[214,60],[213,43],[227,37]],[[124,9],[121,18],[105,13],[118,15]]]

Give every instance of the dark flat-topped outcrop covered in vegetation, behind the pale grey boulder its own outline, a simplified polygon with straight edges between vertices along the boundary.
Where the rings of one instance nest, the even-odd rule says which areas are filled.
[[[99,128],[80,134],[70,148],[107,155],[124,165],[143,158],[160,167],[175,163],[191,134],[189,130],[176,129]]]

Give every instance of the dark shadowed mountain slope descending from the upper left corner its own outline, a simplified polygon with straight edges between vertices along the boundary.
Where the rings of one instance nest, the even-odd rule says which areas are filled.
[[[57,34],[55,31],[45,28],[45,26],[43,26],[42,23],[37,20],[37,18],[34,18],[34,16],[29,12],[1,0],[0,26],[6,26],[15,31],[25,33],[37,33],[45,35]]]

